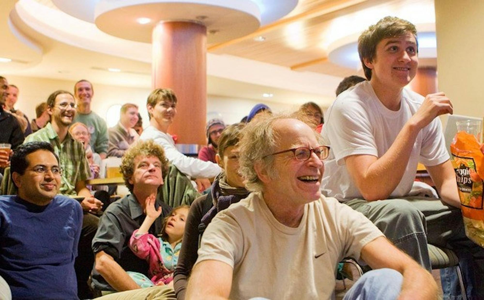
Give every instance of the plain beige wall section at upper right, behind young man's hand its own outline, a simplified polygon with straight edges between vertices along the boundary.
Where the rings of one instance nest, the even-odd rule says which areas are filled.
[[[439,90],[454,104],[454,113],[484,115],[484,1],[436,0]]]

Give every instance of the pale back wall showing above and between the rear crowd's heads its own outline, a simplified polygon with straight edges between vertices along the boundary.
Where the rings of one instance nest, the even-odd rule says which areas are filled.
[[[55,90],[68,90],[73,92],[75,81],[49,79],[40,77],[7,75],[9,83],[15,84],[19,90],[19,99],[15,108],[23,111],[29,119],[35,118],[35,106],[46,101],[47,97]],[[111,105],[124,104],[127,102],[139,106],[143,127],[148,126],[148,113],[146,111],[146,98],[151,89],[129,88],[94,84],[94,96],[92,110],[106,119],[107,109]],[[222,118],[227,124],[238,122],[248,115],[251,108],[260,101],[224,96],[209,95],[207,99],[207,114],[209,118]],[[273,111],[289,111],[297,109],[298,105],[288,105],[276,102],[264,102]],[[180,117],[180,116],[179,116]]]

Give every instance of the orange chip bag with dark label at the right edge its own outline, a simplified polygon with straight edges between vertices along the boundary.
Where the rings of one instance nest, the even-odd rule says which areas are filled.
[[[459,131],[451,144],[466,235],[484,247],[484,154],[480,148],[475,136],[465,131]]]

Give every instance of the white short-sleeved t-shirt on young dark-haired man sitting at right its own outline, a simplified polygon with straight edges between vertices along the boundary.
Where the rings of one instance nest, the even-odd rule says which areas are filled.
[[[362,198],[348,174],[344,158],[355,154],[381,157],[420,108],[423,99],[422,95],[404,89],[400,109],[392,111],[378,100],[368,81],[341,93],[328,109],[321,132],[331,146],[330,157],[324,163],[323,193],[340,201]],[[408,195],[419,162],[432,166],[448,159],[442,125],[435,118],[417,135],[405,173],[391,197]]]

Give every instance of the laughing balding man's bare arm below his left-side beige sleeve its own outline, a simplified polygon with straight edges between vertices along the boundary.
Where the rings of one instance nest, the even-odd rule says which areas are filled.
[[[228,299],[232,273],[231,266],[218,260],[204,260],[198,263],[188,281],[186,299]],[[209,277],[210,280],[207,280]]]

